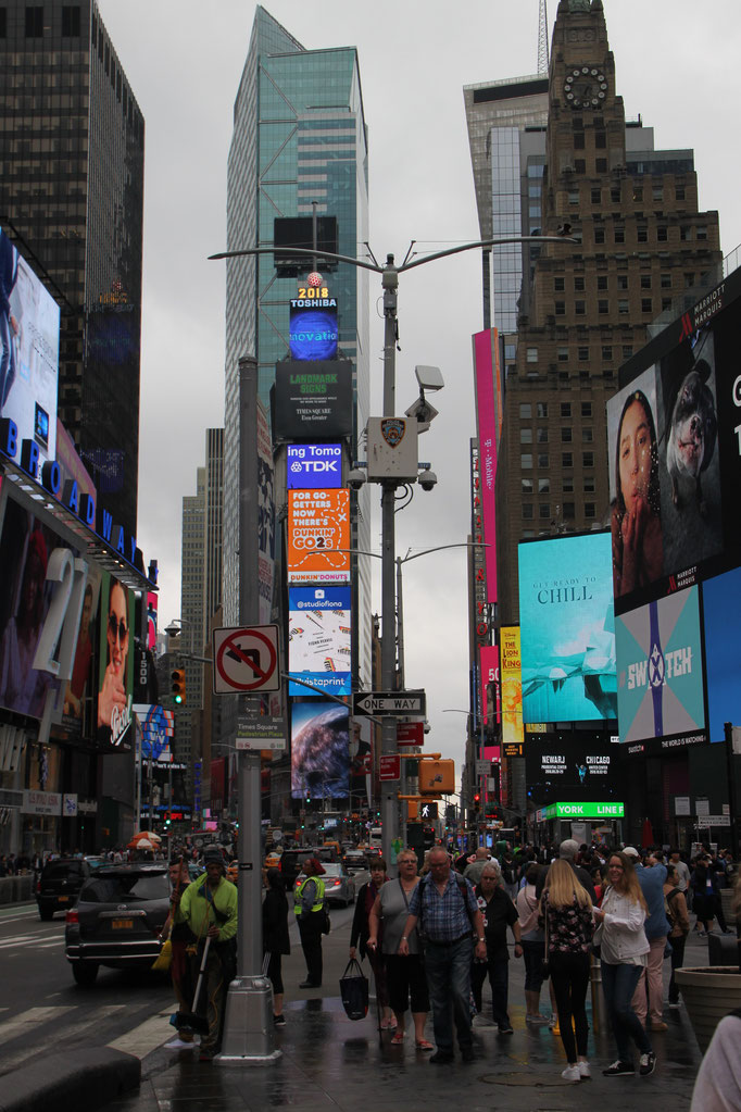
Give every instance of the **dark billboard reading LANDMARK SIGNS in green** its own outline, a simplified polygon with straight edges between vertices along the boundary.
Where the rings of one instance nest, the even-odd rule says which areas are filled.
[[[352,364],[349,359],[276,364],[277,440],[320,440],[352,435]]]

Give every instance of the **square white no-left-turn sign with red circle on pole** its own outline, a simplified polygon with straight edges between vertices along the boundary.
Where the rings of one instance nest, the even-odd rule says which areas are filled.
[[[213,692],[280,691],[278,626],[213,631]]]

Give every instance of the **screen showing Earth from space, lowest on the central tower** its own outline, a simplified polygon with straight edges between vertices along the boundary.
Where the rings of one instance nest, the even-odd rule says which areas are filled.
[[[294,800],[350,794],[350,708],[329,701],[291,704],[291,795]]]

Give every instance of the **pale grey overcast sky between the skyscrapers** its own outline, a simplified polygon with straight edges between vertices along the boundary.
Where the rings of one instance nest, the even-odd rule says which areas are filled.
[[[196,493],[207,426],[223,424],[227,153],[254,6],[247,0],[99,0],[147,123],[139,544],[160,565],[160,625],[180,614],[182,496]],[[273,0],[307,49],[358,48],[369,128],[370,242],[403,259],[479,238],[462,87],[533,73],[538,0]],[[549,0],[549,37],[557,10]],[[627,119],[657,148],[693,148],[700,206],[720,211],[723,254],[741,242],[738,0],[604,0]],[[244,245],[252,246],[252,245]],[[371,286],[373,301],[380,295]],[[375,411],[382,321],[371,312]],[[402,276],[400,409],[415,364],[442,369],[440,410],[420,441],[439,477],[397,517],[397,548],[464,542],[474,435],[471,335],[482,327],[478,252]],[[375,530],[380,528],[380,514]],[[413,560],[404,576],[407,686],[428,692],[428,745],[460,774],[468,707],[465,553]],[[377,594],[374,608],[380,609]]]

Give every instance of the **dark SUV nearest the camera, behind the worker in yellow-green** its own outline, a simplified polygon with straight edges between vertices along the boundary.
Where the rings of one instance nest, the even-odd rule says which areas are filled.
[[[160,952],[170,906],[168,866],[137,862],[96,870],[67,913],[64,955],[79,985],[100,965],[148,969]]]

